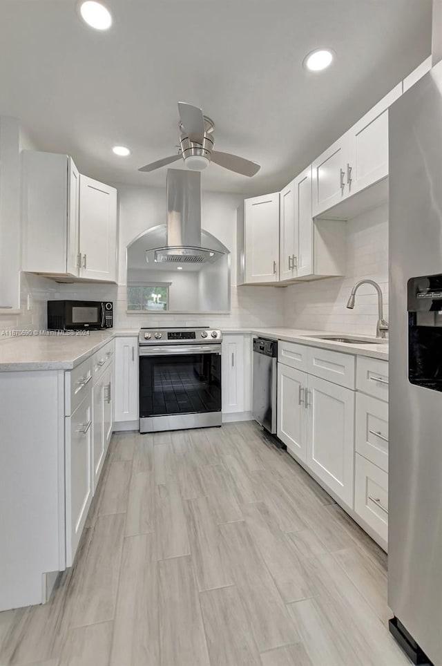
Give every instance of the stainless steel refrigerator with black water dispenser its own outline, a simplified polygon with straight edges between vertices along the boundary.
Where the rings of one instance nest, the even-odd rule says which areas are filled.
[[[440,666],[442,63],[394,103],[389,124],[390,629],[414,663]]]

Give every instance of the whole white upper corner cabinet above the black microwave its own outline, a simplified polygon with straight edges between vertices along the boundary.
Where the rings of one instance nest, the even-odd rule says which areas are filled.
[[[117,191],[68,155],[23,151],[23,270],[117,279]]]

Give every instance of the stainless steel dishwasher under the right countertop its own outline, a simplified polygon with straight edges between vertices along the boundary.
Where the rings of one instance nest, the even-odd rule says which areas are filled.
[[[253,418],[276,435],[276,386],[278,341],[253,340]]]

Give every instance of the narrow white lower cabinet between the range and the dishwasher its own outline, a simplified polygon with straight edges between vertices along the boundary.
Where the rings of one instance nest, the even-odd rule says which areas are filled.
[[[222,338],[222,413],[251,410],[251,336],[224,334]]]

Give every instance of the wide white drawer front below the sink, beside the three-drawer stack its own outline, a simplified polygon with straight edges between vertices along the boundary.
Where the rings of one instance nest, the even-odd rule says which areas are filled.
[[[342,352],[330,352],[318,347],[309,347],[308,350],[307,372],[309,374],[354,390],[356,356]]]

